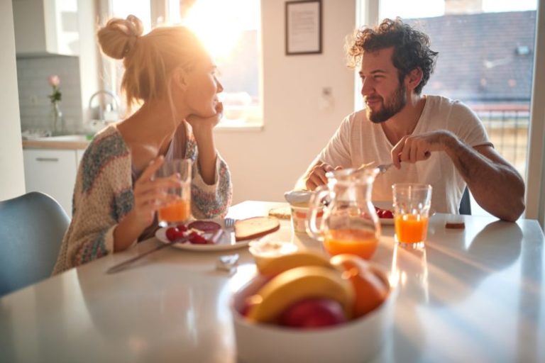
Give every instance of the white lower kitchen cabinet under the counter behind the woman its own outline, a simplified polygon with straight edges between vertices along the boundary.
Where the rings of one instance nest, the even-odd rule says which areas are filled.
[[[41,191],[72,216],[72,191],[83,150],[23,149],[26,191]]]

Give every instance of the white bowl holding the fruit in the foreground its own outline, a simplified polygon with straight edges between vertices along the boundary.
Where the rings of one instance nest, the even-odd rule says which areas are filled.
[[[383,269],[379,273],[387,281]],[[256,277],[231,301],[241,362],[366,362],[392,337],[396,294],[391,287],[382,305],[361,318],[331,328],[300,330],[251,323],[241,314],[246,297],[255,294],[265,281],[265,277]]]

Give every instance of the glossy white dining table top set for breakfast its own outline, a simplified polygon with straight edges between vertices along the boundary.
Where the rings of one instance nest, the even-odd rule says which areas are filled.
[[[280,205],[247,201],[229,215],[265,215]],[[424,250],[397,247],[393,228],[382,230],[373,259],[390,270],[399,294],[392,337],[375,361],[545,362],[538,223],[465,216],[465,230],[446,230],[446,218],[431,218]],[[275,237],[319,247],[292,235],[288,221]],[[229,298],[255,272],[251,255],[234,251],[241,266],[233,275],[214,267],[229,252],[174,248],[104,273],[157,243],[1,298],[0,362],[236,362]]]

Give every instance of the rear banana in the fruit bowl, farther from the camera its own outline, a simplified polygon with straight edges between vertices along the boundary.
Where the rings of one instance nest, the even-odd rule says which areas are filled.
[[[288,269],[302,266],[334,268],[331,263],[329,263],[327,257],[320,255],[317,252],[297,251],[264,261],[262,266],[260,266],[260,273],[266,276],[276,276]]]

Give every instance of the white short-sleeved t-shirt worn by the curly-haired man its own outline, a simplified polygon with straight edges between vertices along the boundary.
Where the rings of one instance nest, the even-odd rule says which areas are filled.
[[[426,96],[426,104],[413,134],[433,130],[449,130],[471,147],[490,145],[488,135],[478,117],[468,106],[441,96]],[[365,110],[347,116],[324,150],[318,156],[333,167],[359,167],[361,164],[392,162],[392,143],[382,126],[372,123]],[[432,152],[428,160],[415,164],[402,163],[379,175],[373,184],[373,201],[391,201],[392,185],[402,182],[431,184],[431,208],[439,213],[458,213],[466,182],[446,152]]]

